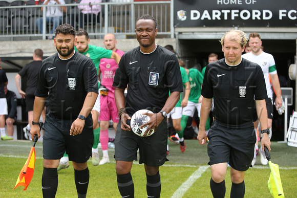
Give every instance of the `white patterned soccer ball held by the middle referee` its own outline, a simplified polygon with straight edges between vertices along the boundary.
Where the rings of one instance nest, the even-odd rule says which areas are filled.
[[[141,109],[141,110],[135,112],[135,114],[133,114],[133,116],[131,118],[131,128],[132,128],[134,134],[141,136],[141,137],[147,137],[149,135],[144,136],[144,132],[147,128],[149,128],[149,126],[144,126],[143,128],[139,128],[139,126],[141,126],[142,124],[145,124],[146,122],[150,121],[150,117],[143,115],[143,113],[153,114],[153,112],[151,112],[150,110],[147,110],[147,109]],[[155,129],[152,131],[151,135],[153,135],[154,133],[155,133]]]

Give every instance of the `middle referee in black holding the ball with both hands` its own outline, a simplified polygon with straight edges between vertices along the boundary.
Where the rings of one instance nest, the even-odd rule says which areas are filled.
[[[134,197],[130,171],[139,148],[139,163],[144,163],[146,172],[147,197],[160,197],[159,166],[166,161],[166,118],[183,91],[182,80],[174,53],[155,43],[156,19],[150,15],[141,16],[136,20],[135,32],[140,46],[122,56],[113,83],[120,118],[115,138],[117,183],[122,197]],[[171,95],[168,97],[169,91]],[[149,125],[146,133],[155,129],[152,136],[137,136],[126,124],[139,109],[149,109],[154,113],[146,114],[151,120],[140,126]]]

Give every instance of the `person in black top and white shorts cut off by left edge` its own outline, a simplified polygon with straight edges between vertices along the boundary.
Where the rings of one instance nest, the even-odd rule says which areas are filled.
[[[8,79],[4,70],[0,70],[0,132],[1,140],[7,138],[5,134],[5,115],[7,115],[7,102],[4,92],[4,86],[7,85]]]

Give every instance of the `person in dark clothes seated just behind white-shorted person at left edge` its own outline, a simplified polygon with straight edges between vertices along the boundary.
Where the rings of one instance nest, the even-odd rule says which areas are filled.
[[[16,106],[17,100],[14,92],[7,90],[7,85],[4,86],[5,97],[8,107],[8,115],[5,116],[5,122],[7,126],[6,140],[13,140],[13,123],[16,120]]]

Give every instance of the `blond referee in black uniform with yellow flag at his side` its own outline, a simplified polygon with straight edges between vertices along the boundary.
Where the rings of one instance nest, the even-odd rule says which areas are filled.
[[[225,58],[206,67],[201,95],[198,140],[206,144],[205,123],[214,98],[215,121],[207,135],[211,167],[210,189],[214,197],[225,197],[225,175],[230,165],[230,197],[244,197],[245,171],[251,166],[256,136],[253,129],[253,100],[263,129],[262,146],[270,150],[267,128],[266,85],[261,67],[241,58],[246,34],[231,30],[221,39]]]

